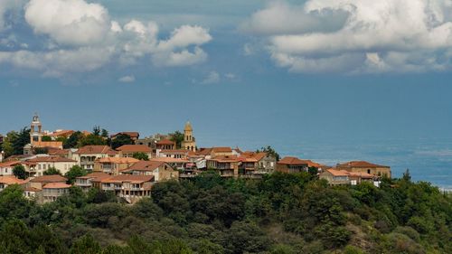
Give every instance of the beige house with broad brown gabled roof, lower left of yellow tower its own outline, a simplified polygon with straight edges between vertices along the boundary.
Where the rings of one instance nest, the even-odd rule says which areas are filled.
[[[178,171],[162,161],[139,161],[127,169],[122,170],[121,174],[154,175],[155,182],[178,179],[179,177]]]

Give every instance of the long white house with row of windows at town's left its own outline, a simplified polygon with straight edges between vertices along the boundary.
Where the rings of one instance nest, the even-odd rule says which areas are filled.
[[[47,169],[54,167],[66,174],[71,167],[77,165],[77,161],[61,156],[36,156],[24,162],[25,170],[30,176],[42,176]]]

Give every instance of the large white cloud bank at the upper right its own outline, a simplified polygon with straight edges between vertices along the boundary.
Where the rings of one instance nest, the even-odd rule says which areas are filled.
[[[253,14],[243,27],[263,34],[271,58],[289,71],[451,68],[450,57],[445,58],[452,47],[452,2],[447,0],[278,2]]]

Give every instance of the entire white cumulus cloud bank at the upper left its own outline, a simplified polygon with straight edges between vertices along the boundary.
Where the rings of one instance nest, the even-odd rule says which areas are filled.
[[[0,15],[3,17],[19,2],[24,1],[0,0]],[[155,66],[174,67],[208,58],[202,45],[210,42],[212,36],[201,26],[184,24],[174,28],[168,38],[159,39],[155,22],[132,19],[120,24],[110,18],[104,6],[84,0],[31,0],[20,6],[24,21],[39,35],[34,38],[44,38],[44,46],[36,48],[33,43],[32,49],[20,46],[22,50],[0,52],[0,63],[42,71],[44,76],[61,77],[65,73],[95,71],[107,64],[131,65],[146,59]],[[0,32],[4,26],[4,19],[0,18]],[[0,43],[12,45],[11,38],[14,37],[5,37]],[[127,80],[130,79],[123,81]]]

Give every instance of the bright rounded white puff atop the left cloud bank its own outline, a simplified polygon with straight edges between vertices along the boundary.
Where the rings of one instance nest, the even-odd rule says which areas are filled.
[[[71,45],[101,42],[111,27],[106,8],[83,0],[31,0],[25,20],[35,33]]]

